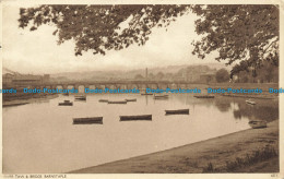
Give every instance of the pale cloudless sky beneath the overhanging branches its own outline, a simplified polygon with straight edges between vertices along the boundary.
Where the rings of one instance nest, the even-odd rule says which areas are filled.
[[[214,55],[201,60],[191,53],[191,41],[199,38],[194,32],[197,16],[192,13],[178,17],[167,31],[154,28],[142,47],[132,45],[123,50],[107,51],[106,56],[88,51],[76,57],[72,40],[57,45],[58,37],[52,35],[55,26],[43,25],[34,32],[19,28],[19,12],[16,4],[3,7],[2,65],[20,73],[133,70],[216,62]]]

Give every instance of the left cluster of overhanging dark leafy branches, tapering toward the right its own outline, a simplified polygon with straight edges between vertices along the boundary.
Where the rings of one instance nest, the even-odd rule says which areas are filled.
[[[188,5],[40,5],[21,9],[20,27],[31,31],[55,24],[58,44],[73,39],[75,55],[93,50],[120,50],[131,44],[144,45],[152,28],[165,27],[186,12]],[[127,25],[121,25],[127,22]]]

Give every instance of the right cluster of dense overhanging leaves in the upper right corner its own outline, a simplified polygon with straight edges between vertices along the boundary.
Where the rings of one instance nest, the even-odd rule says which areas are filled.
[[[216,60],[227,60],[227,64],[244,60],[244,64],[259,68],[270,60],[279,65],[277,7],[197,5],[192,10],[201,16],[196,32],[203,37],[193,41],[193,53],[200,58],[216,50]]]

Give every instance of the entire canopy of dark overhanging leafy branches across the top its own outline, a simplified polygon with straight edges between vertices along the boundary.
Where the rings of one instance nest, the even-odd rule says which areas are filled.
[[[279,8],[272,4],[234,5],[40,5],[21,9],[20,27],[37,29],[54,24],[58,44],[73,39],[75,55],[93,50],[105,55],[131,44],[144,45],[154,27],[166,27],[178,16],[192,11],[199,19],[192,41],[193,55],[205,58],[217,51],[217,61],[237,61],[236,69],[255,69],[269,60],[279,65]]]

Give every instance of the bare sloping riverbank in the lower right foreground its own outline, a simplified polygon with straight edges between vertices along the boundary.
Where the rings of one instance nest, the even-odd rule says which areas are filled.
[[[94,167],[71,171],[72,174],[201,174],[230,172],[228,164],[252,158],[263,148],[273,148],[279,154],[279,120],[268,128],[245,131],[179,146],[176,148],[132,157]],[[114,151],[115,152],[115,151]],[[238,165],[234,172],[279,172],[279,156],[257,160],[246,167]]]

